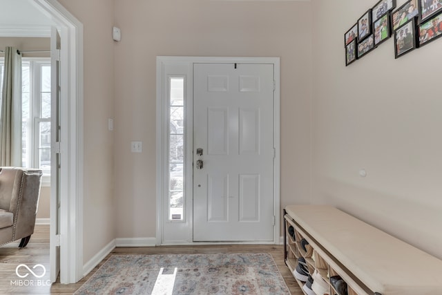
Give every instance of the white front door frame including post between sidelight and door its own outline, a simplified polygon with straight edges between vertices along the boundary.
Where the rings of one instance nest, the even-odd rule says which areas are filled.
[[[273,100],[273,146],[276,150],[276,155],[273,164],[273,214],[276,218],[275,226],[273,227],[273,243],[280,244],[280,58],[279,57],[157,57],[157,136],[156,136],[156,155],[157,155],[157,233],[156,233],[156,245],[171,245],[171,244],[201,244],[201,242],[193,242],[192,240],[182,240],[173,242],[163,242],[163,229],[164,229],[164,195],[168,193],[166,191],[166,185],[164,182],[167,178],[167,171],[164,169],[164,163],[167,161],[169,156],[169,151],[167,149],[167,124],[169,115],[167,113],[167,103],[168,103],[168,93],[164,88],[164,68],[167,65],[180,65],[186,67],[186,73],[182,75],[187,75],[187,79],[193,78],[193,64],[196,63],[210,63],[210,64],[273,64],[274,73],[273,77],[275,79],[275,91]],[[171,73],[169,73],[171,74]],[[193,82],[190,80],[187,86],[193,87]],[[186,93],[193,93],[193,90],[187,90]],[[191,95],[193,96],[193,95]],[[193,97],[187,97],[188,102],[193,100]],[[189,106],[188,106],[189,108]],[[186,115],[191,114],[191,111],[186,111]],[[191,117],[191,116],[189,116]],[[189,120],[186,120],[186,146],[193,146],[193,128],[192,124],[189,124]],[[189,143],[190,140],[190,143]],[[190,152],[192,155],[192,151]],[[192,158],[189,158],[189,151],[186,153],[186,166],[189,171],[189,166],[191,166]],[[192,169],[190,169],[192,171]],[[189,180],[186,180],[189,182]],[[191,187],[191,186],[190,186]],[[191,191],[189,186],[187,186],[187,192]],[[189,193],[191,196],[191,194]],[[187,198],[189,199],[189,197]],[[186,200],[187,202],[188,200]],[[188,203],[188,207],[189,207]],[[192,210],[186,210],[189,215]],[[186,236],[192,236],[192,222],[193,216],[187,216],[189,218],[189,233]],[[239,244],[239,242],[238,242]]]

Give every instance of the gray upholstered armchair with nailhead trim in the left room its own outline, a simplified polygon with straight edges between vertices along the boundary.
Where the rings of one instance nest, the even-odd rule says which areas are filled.
[[[23,248],[34,234],[43,172],[0,167],[0,246],[21,238]]]

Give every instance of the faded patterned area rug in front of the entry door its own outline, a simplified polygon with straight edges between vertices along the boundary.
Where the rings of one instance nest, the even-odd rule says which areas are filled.
[[[290,294],[269,254],[113,255],[75,294]]]

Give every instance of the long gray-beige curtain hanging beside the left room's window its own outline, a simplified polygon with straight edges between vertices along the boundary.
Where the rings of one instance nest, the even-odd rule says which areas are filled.
[[[21,55],[6,47],[0,113],[0,166],[21,166]]]

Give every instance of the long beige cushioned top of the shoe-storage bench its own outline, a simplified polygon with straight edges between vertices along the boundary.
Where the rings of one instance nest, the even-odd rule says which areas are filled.
[[[442,260],[328,205],[287,213],[373,292],[442,294]]]

